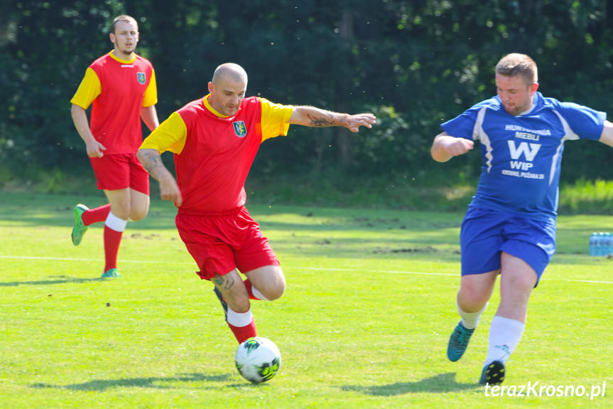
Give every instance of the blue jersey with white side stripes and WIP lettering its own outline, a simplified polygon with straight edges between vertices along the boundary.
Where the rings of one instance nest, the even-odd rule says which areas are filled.
[[[564,142],[600,139],[605,119],[604,112],[536,92],[526,114],[507,114],[496,96],[441,126],[452,137],[481,142],[471,206],[548,221],[557,215]]]

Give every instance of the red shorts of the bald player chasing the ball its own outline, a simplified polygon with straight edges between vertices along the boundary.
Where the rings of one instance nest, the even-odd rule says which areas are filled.
[[[235,268],[248,272],[266,265],[279,265],[260,226],[242,206],[219,215],[178,213],[179,235],[194,258],[202,280],[224,275]]]

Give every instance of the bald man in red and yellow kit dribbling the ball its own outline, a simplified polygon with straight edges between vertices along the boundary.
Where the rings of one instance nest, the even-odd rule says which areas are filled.
[[[286,135],[290,124],[358,132],[375,123],[372,114],[340,114],[245,97],[246,87],[241,66],[219,65],[208,85],[210,93],[170,115],[137,155],[160,182],[161,197],[178,207],[179,234],[200,269],[197,274],[215,284],[239,344],[257,335],[249,299],[278,299],[286,288],[268,240],[244,206],[244,182],[260,144]],[[161,161],[166,151],[175,154],[176,181]]]

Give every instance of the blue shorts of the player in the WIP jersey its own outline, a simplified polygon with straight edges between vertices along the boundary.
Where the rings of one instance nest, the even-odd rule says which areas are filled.
[[[521,258],[538,280],[555,253],[555,219],[537,221],[470,207],[460,231],[462,275],[500,270],[501,252]]]

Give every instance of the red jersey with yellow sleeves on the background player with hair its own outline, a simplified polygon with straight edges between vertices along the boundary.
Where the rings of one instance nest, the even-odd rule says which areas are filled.
[[[134,154],[143,142],[141,107],[155,105],[157,99],[148,60],[136,54],[121,60],[108,53],[89,65],[70,102],[84,110],[93,102],[89,127],[107,148],[104,154]]]

